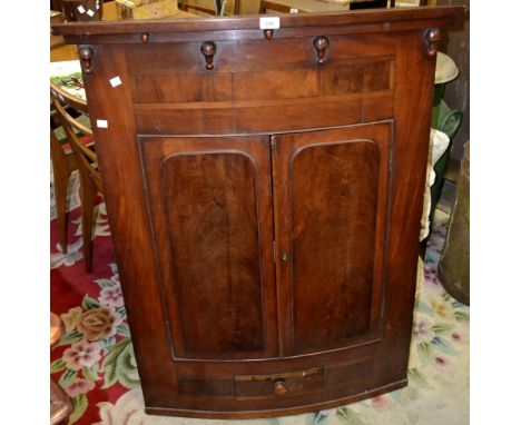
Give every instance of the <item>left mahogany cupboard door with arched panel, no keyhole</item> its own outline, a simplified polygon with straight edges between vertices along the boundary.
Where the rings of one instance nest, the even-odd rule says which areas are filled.
[[[277,353],[267,137],[139,137],[174,359]]]

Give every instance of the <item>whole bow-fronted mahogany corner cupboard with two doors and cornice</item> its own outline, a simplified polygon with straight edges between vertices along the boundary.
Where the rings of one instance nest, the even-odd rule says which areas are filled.
[[[462,12],[53,27],[79,45],[147,413],[406,385],[436,48]]]

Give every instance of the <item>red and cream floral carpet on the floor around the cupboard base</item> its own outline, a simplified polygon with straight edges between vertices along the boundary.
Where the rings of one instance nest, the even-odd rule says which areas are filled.
[[[409,386],[347,406],[252,421],[149,416],[114,256],[105,205],[98,206],[94,273],[85,271],[79,208],[69,214],[68,254],[51,219],[51,310],[65,334],[50,353],[51,377],[72,398],[70,424],[218,425],[347,424],[463,425],[469,423],[469,307],[451,298],[436,277],[445,228],[434,228],[419,264],[419,288],[409,365]],[[51,212],[52,217],[52,212]],[[423,268],[423,274],[422,274]]]

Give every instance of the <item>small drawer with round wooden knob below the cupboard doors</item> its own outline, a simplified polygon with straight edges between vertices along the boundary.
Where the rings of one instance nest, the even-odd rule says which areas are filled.
[[[324,387],[324,368],[284,372],[266,375],[236,375],[235,399],[287,398]]]

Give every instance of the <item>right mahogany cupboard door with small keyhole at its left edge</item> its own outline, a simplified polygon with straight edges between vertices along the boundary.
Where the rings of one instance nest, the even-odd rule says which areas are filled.
[[[392,122],[272,142],[284,355],[381,338]]]

